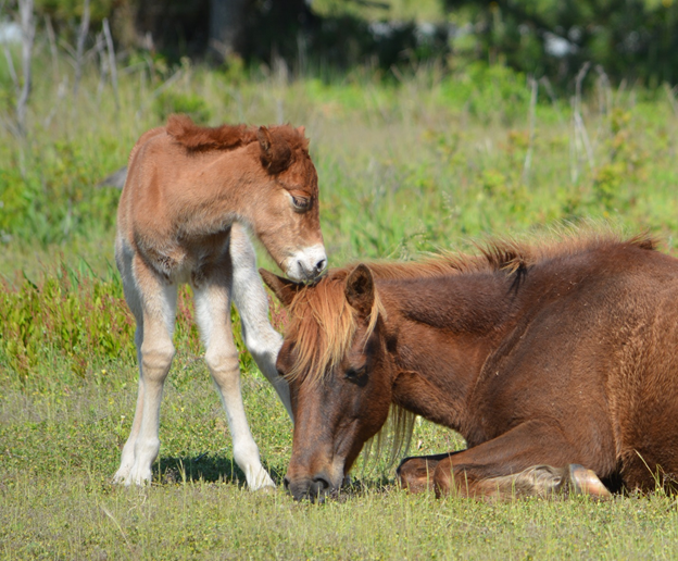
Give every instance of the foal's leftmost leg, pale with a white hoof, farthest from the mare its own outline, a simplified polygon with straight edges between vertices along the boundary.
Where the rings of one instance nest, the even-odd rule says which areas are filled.
[[[140,259],[135,263],[134,277],[129,255],[118,255],[118,267],[125,298],[137,317],[139,390],[131,431],[114,482],[140,485],[151,479],[151,466],[160,450],[160,402],[174,357],[176,286],[159,279]]]

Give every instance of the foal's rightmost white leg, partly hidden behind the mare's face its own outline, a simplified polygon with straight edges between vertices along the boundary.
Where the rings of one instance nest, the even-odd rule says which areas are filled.
[[[244,345],[292,419],[289,386],[276,369],[282,337],[268,321],[268,299],[256,271],[254,248],[244,226],[238,223],[231,226],[229,251],[233,262],[233,297],[242,322]]]

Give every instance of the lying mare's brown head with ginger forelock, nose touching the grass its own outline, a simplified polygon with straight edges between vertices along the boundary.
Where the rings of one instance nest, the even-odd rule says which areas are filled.
[[[335,270],[302,286],[261,270],[288,308],[278,354],[289,382],[294,439],[285,486],[294,499],[337,490],[363,445],[385,424],[393,364],[369,269]]]

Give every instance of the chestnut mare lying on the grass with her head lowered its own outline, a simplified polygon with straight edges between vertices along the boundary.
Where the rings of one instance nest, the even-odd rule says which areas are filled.
[[[494,244],[314,286],[260,272],[290,313],[296,499],[337,490],[391,407],[468,445],[405,459],[414,491],[607,496],[678,476],[678,260],[651,239]]]

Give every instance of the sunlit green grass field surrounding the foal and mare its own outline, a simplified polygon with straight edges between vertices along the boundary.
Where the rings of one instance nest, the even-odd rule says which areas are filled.
[[[46,49],[46,48],[45,48]],[[112,267],[118,191],[95,184],[174,111],[208,124],[304,124],[321,178],[330,265],[465,249],[612,223],[678,234],[674,91],[552,95],[503,67],[435,65],[289,80],[280,68],[208,71],[131,60],[113,90],[38,51],[29,134],[0,129],[0,554],[4,559],[675,559],[678,508],[661,493],[597,503],[409,496],[386,459],[322,506],[252,494],[234,466],[187,294],[151,487],[110,484],[136,399],[134,326]],[[4,73],[4,74],[3,74]],[[10,78],[0,66],[3,122]],[[64,94],[65,91],[65,94]],[[570,97],[572,96],[572,97]],[[273,269],[261,253],[261,263]],[[237,321],[236,321],[237,324]],[[239,342],[239,341],[238,341]],[[239,342],[240,345],[240,342]],[[291,424],[241,354],[246,409],[279,482]],[[463,447],[417,423],[412,451]]]

